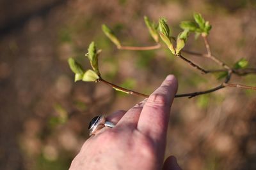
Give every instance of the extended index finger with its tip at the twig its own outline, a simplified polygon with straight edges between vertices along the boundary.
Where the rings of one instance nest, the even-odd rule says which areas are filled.
[[[145,103],[138,122],[138,130],[152,138],[157,145],[164,145],[170,107],[177,92],[177,80],[169,75]]]

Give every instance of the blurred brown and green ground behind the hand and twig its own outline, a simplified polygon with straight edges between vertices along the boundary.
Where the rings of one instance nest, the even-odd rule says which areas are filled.
[[[168,19],[175,36],[182,20],[200,12],[212,24],[212,52],[232,66],[244,57],[256,67],[254,0],[1,0],[0,1],[0,169],[68,169],[88,138],[88,123],[99,114],[128,110],[141,101],[102,83],[74,83],[67,59],[84,57],[91,41],[102,49],[102,77],[145,94],[167,74],[179,80],[178,93],[206,90],[220,83],[202,75],[161,48],[148,52],[116,50],[101,31],[113,28],[124,45],[154,45],[143,16]],[[205,52],[191,36],[187,50]],[[185,55],[206,69],[211,60]],[[234,76],[232,83],[256,85],[256,76]],[[226,88],[192,99],[175,99],[166,157],[182,169],[256,169],[256,93]]]

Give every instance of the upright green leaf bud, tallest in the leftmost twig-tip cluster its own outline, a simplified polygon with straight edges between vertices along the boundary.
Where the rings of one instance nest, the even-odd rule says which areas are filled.
[[[88,48],[88,59],[90,60],[90,64],[93,68],[93,70],[95,71],[95,73],[97,73],[98,75],[100,75],[100,71],[99,71],[99,65],[98,65],[98,51],[96,48],[95,43],[92,41],[92,43],[90,43],[89,48]]]

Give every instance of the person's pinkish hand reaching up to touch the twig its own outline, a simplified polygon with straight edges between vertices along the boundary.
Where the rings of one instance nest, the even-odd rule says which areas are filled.
[[[176,92],[177,80],[169,75],[148,99],[107,117],[115,127],[104,127],[89,138],[70,170],[179,170],[175,157],[168,157],[163,165],[170,108]]]

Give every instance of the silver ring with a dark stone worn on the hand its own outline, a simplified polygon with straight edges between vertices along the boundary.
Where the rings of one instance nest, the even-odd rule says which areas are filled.
[[[95,135],[95,132],[99,131],[103,127],[115,127],[115,125],[112,122],[106,121],[106,118],[103,116],[97,116],[92,118],[90,124],[89,124],[89,135]]]

